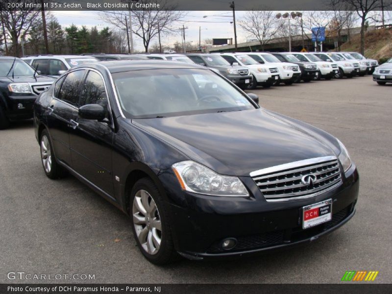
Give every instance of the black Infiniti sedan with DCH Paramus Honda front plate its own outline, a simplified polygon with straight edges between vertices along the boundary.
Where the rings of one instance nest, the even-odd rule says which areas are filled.
[[[343,144],[257,99],[196,64],[76,66],[34,104],[44,172],[123,210],[155,264],[295,245],[350,220],[359,177]]]

